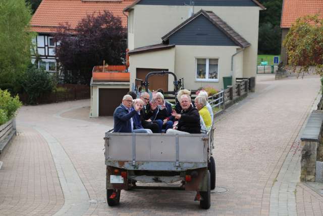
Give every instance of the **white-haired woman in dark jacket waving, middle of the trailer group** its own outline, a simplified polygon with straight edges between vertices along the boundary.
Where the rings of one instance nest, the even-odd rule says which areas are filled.
[[[153,101],[150,104],[150,109],[153,110],[150,120],[157,122],[161,128],[167,131],[173,127],[172,105],[164,100],[164,95],[160,92],[155,94]]]

